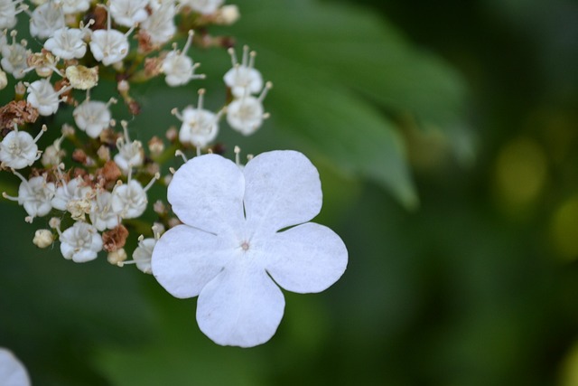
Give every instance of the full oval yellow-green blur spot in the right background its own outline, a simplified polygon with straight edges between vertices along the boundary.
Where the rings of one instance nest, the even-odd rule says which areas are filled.
[[[517,210],[536,201],[547,177],[545,153],[530,138],[505,146],[496,163],[496,190],[500,203]]]

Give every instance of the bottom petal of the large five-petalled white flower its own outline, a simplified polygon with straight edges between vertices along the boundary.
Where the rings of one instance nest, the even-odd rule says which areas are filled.
[[[200,292],[197,322],[216,344],[253,347],[275,334],[284,303],[263,268],[235,259]]]

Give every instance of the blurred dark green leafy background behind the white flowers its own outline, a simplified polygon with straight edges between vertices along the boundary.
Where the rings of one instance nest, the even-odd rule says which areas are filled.
[[[219,140],[228,156],[312,159],[315,221],[348,246],[346,273],[322,294],[285,293],[269,343],[220,347],[196,299],[104,256],[36,249],[47,220],[1,200],[0,345],[33,384],[578,385],[578,3],[238,5],[238,24],[208,33],[256,50],[272,117],[248,138],[223,123]],[[136,117],[117,106],[134,139],[178,125],[171,108],[197,88],[222,105],[227,52],[190,54],[207,80],[135,89]]]

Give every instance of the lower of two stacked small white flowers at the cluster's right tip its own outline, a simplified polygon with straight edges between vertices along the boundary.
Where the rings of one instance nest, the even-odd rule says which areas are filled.
[[[229,103],[227,107],[228,125],[245,136],[255,133],[256,129],[263,124],[263,119],[268,117],[268,114],[264,112],[263,99],[271,87],[271,82],[267,82],[258,98],[245,95],[243,98]]]

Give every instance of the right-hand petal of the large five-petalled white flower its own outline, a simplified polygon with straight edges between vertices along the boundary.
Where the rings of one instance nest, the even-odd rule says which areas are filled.
[[[321,292],[335,283],[347,267],[345,244],[331,229],[307,222],[266,240],[266,270],[288,291]]]

